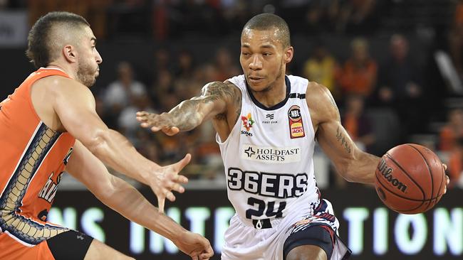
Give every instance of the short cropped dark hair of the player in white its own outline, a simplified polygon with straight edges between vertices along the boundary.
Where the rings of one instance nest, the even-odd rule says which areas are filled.
[[[244,25],[243,31],[241,31],[241,36],[246,29],[259,31],[278,29],[279,38],[277,40],[283,44],[283,48],[291,46],[288,23],[286,23],[283,18],[273,13],[261,13],[251,18]]]

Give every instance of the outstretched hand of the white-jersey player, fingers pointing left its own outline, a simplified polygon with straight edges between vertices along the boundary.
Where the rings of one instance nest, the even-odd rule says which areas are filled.
[[[172,119],[169,114],[153,114],[145,111],[137,112],[137,120],[140,122],[140,126],[144,128],[151,128],[151,131],[163,131],[168,136],[177,134],[180,129],[177,126],[173,126]]]

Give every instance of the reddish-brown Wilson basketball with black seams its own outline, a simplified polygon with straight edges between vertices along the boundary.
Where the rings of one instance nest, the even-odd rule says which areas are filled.
[[[425,146],[406,143],[385,153],[375,171],[375,189],[395,212],[417,214],[430,210],[444,194],[444,167]]]

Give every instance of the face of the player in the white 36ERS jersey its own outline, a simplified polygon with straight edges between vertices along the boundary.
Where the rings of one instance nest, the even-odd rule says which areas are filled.
[[[274,85],[284,86],[286,63],[293,48],[283,48],[275,30],[245,29],[241,35],[239,62],[251,90],[268,91]]]

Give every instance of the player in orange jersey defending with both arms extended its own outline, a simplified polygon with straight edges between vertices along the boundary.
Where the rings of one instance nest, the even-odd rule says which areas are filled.
[[[40,67],[0,103],[0,259],[129,259],[85,234],[46,221],[66,168],[105,205],[161,234],[192,256],[209,259],[209,241],[157,210],[105,164],[150,185],[163,207],[187,155],[170,166],[147,160],[95,112],[89,90],[102,62],[88,22],[67,12],[36,21],[28,58]]]

